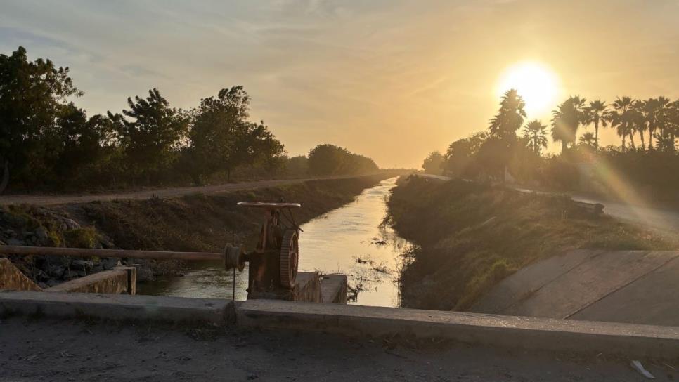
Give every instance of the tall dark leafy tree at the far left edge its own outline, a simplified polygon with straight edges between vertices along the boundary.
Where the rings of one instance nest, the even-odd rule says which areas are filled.
[[[30,185],[44,180],[61,148],[58,116],[67,98],[79,95],[67,67],[29,61],[22,46],[0,55],[0,164],[7,177],[0,185],[9,171]]]

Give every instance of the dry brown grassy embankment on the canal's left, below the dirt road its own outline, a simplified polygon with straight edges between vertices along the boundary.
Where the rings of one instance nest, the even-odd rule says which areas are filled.
[[[295,211],[299,224],[351,202],[362,190],[391,176],[384,173],[337,180],[311,180],[224,195],[91,202],[51,209],[0,206],[0,244],[221,251],[227,242],[251,241],[256,236],[257,224],[261,222],[261,210],[238,207],[236,202],[277,201],[281,198],[288,202],[299,202],[302,208]],[[80,227],[68,228],[63,224],[64,220],[70,219],[79,223]],[[32,260],[31,264],[20,264],[21,268],[27,275],[45,284],[83,275],[70,272],[72,267],[68,264],[64,267],[68,272],[64,272],[62,268],[54,267],[54,261],[49,263],[41,256],[35,257],[37,259]],[[15,260],[20,262],[19,259]],[[86,263],[91,269],[84,271],[101,270],[99,260],[94,259],[93,264]],[[174,261],[130,262],[143,263],[139,274],[141,279],[179,272],[183,265]],[[78,267],[81,265],[78,263]]]

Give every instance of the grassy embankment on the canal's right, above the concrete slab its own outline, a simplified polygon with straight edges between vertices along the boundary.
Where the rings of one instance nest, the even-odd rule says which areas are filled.
[[[388,207],[396,232],[418,245],[401,275],[410,308],[465,310],[501,279],[569,249],[678,247],[609,216],[577,213],[568,197],[458,180],[401,178]]]

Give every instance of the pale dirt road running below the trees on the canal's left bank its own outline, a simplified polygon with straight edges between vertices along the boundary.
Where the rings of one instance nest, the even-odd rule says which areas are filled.
[[[396,176],[396,174],[394,176]],[[109,194],[90,194],[90,195],[0,195],[0,205],[26,203],[34,204],[37,206],[53,206],[58,204],[88,203],[97,200],[110,201],[114,199],[149,199],[151,197],[173,198],[190,194],[212,195],[234,190],[248,190],[251,188],[290,185],[295,183],[306,182],[307,180],[343,179],[355,177],[356,176],[326,176],[319,178],[304,178],[304,179],[257,180],[254,182],[226,183],[221,185],[204,185],[195,187],[192,186],[169,187],[169,188],[157,188],[153,190],[115,192]]]

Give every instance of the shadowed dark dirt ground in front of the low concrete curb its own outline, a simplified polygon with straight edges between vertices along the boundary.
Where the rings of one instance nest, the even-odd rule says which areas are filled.
[[[0,322],[0,381],[643,381],[628,363],[291,332]],[[679,378],[668,362],[645,365],[659,381]]]

